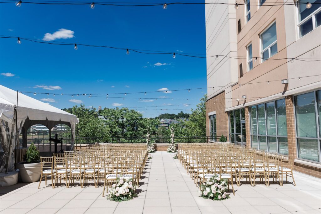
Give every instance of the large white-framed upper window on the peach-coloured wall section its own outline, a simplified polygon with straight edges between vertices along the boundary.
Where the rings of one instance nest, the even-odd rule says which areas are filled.
[[[264,62],[278,52],[275,22],[260,35],[260,38],[262,50],[261,57],[263,58],[262,62]]]

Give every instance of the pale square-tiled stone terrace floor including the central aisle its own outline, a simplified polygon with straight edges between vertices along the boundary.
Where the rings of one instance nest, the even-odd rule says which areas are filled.
[[[42,182],[37,189],[37,182],[0,188],[0,213],[321,213],[321,179],[295,173],[297,186],[235,184],[235,196],[211,201],[199,197],[194,181],[173,155],[152,154],[132,201],[109,201],[101,197],[102,187],[52,189]]]

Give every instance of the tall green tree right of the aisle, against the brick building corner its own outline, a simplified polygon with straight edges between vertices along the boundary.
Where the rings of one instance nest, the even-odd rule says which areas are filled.
[[[207,95],[205,94],[196,109],[191,109],[192,114],[188,121],[179,120],[179,123],[170,125],[175,130],[175,136],[206,136],[206,100]]]

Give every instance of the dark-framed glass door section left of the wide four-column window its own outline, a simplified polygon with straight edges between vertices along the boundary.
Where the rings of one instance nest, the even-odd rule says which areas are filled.
[[[246,145],[245,110],[244,108],[229,112],[230,142]]]

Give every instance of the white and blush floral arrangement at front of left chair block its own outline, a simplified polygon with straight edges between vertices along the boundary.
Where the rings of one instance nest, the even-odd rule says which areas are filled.
[[[117,178],[116,184],[113,184],[109,189],[109,195],[107,199],[110,201],[128,201],[136,197],[135,186],[133,185],[133,179],[128,181],[123,177]]]

